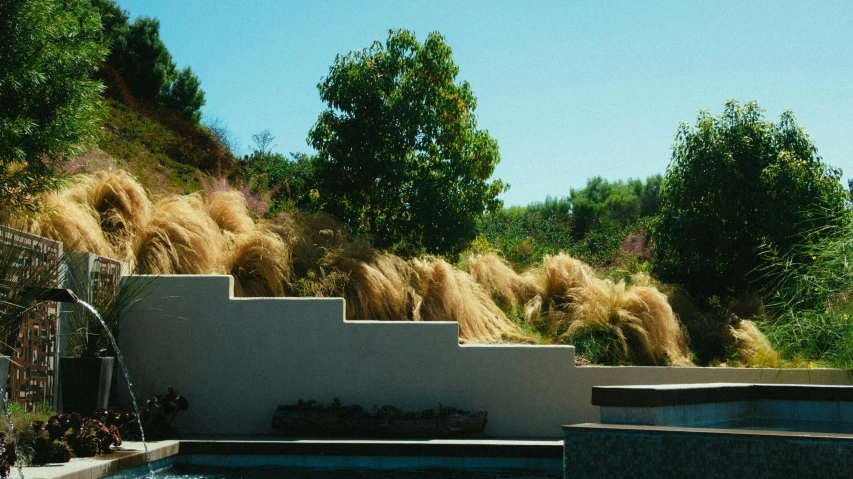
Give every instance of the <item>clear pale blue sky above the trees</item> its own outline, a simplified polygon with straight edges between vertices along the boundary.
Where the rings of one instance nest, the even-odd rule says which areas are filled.
[[[680,121],[729,98],[792,109],[830,165],[853,177],[853,3],[845,1],[117,0],[160,19],[179,67],[248,152],[309,152],[335,55],[389,28],[444,35],[498,141],[507,205],[565,196],[593,176],[664,173]]]

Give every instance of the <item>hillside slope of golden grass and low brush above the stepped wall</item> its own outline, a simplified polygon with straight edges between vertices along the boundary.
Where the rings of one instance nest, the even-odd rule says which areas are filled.
[[[71,183],[45,197],[33,232],[140,273],[230,274],[238,296],[343,296],[352,320],[452,320],[462,342],[574,344],[582,364],[690,364],[690,328],[647,275],[597,272],[553,252],[517,270],[482,244],[458,264],[406,259],[325,214],[270,217],[234,187],[240,163],[203,127],[127,96],[104,105],[97,147],[67,165]],[[204,156],[211,145],[218,164]],[[754,349],[750,324],[714,333]]]

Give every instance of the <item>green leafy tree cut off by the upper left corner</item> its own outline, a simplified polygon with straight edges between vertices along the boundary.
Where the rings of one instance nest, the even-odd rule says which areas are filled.
[[[0,0],[0,201],[35,208],[55,167],[94,140],[106,49],[80,0]]]

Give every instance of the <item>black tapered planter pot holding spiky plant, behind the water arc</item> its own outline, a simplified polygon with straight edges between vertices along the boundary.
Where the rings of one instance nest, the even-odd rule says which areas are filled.
[[[110,398],[115,358],[60,358],[62,412],[88,416],[106,408]]]

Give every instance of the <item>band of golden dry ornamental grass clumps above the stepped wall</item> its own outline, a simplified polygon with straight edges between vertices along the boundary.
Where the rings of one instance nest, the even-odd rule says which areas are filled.
[[[340,294],[347,319],[455,321],[464,343],[530,342],[505,312],[523,310],[517,316],[570,342],[606,331],[625,363],[689,363],[681,323],[650,278],[602,280],[565,253],[521,274],[492,253],[469,256],[467,272],[436,257],[405,261],[349,243],[328,215],[258,221],[243,194],[226,188],[152,203],[121,171],[83,177],[45,202],[36,233],[142,272],[231,274],[238,296]],[[748,325],[733,334],[760,343]]]

